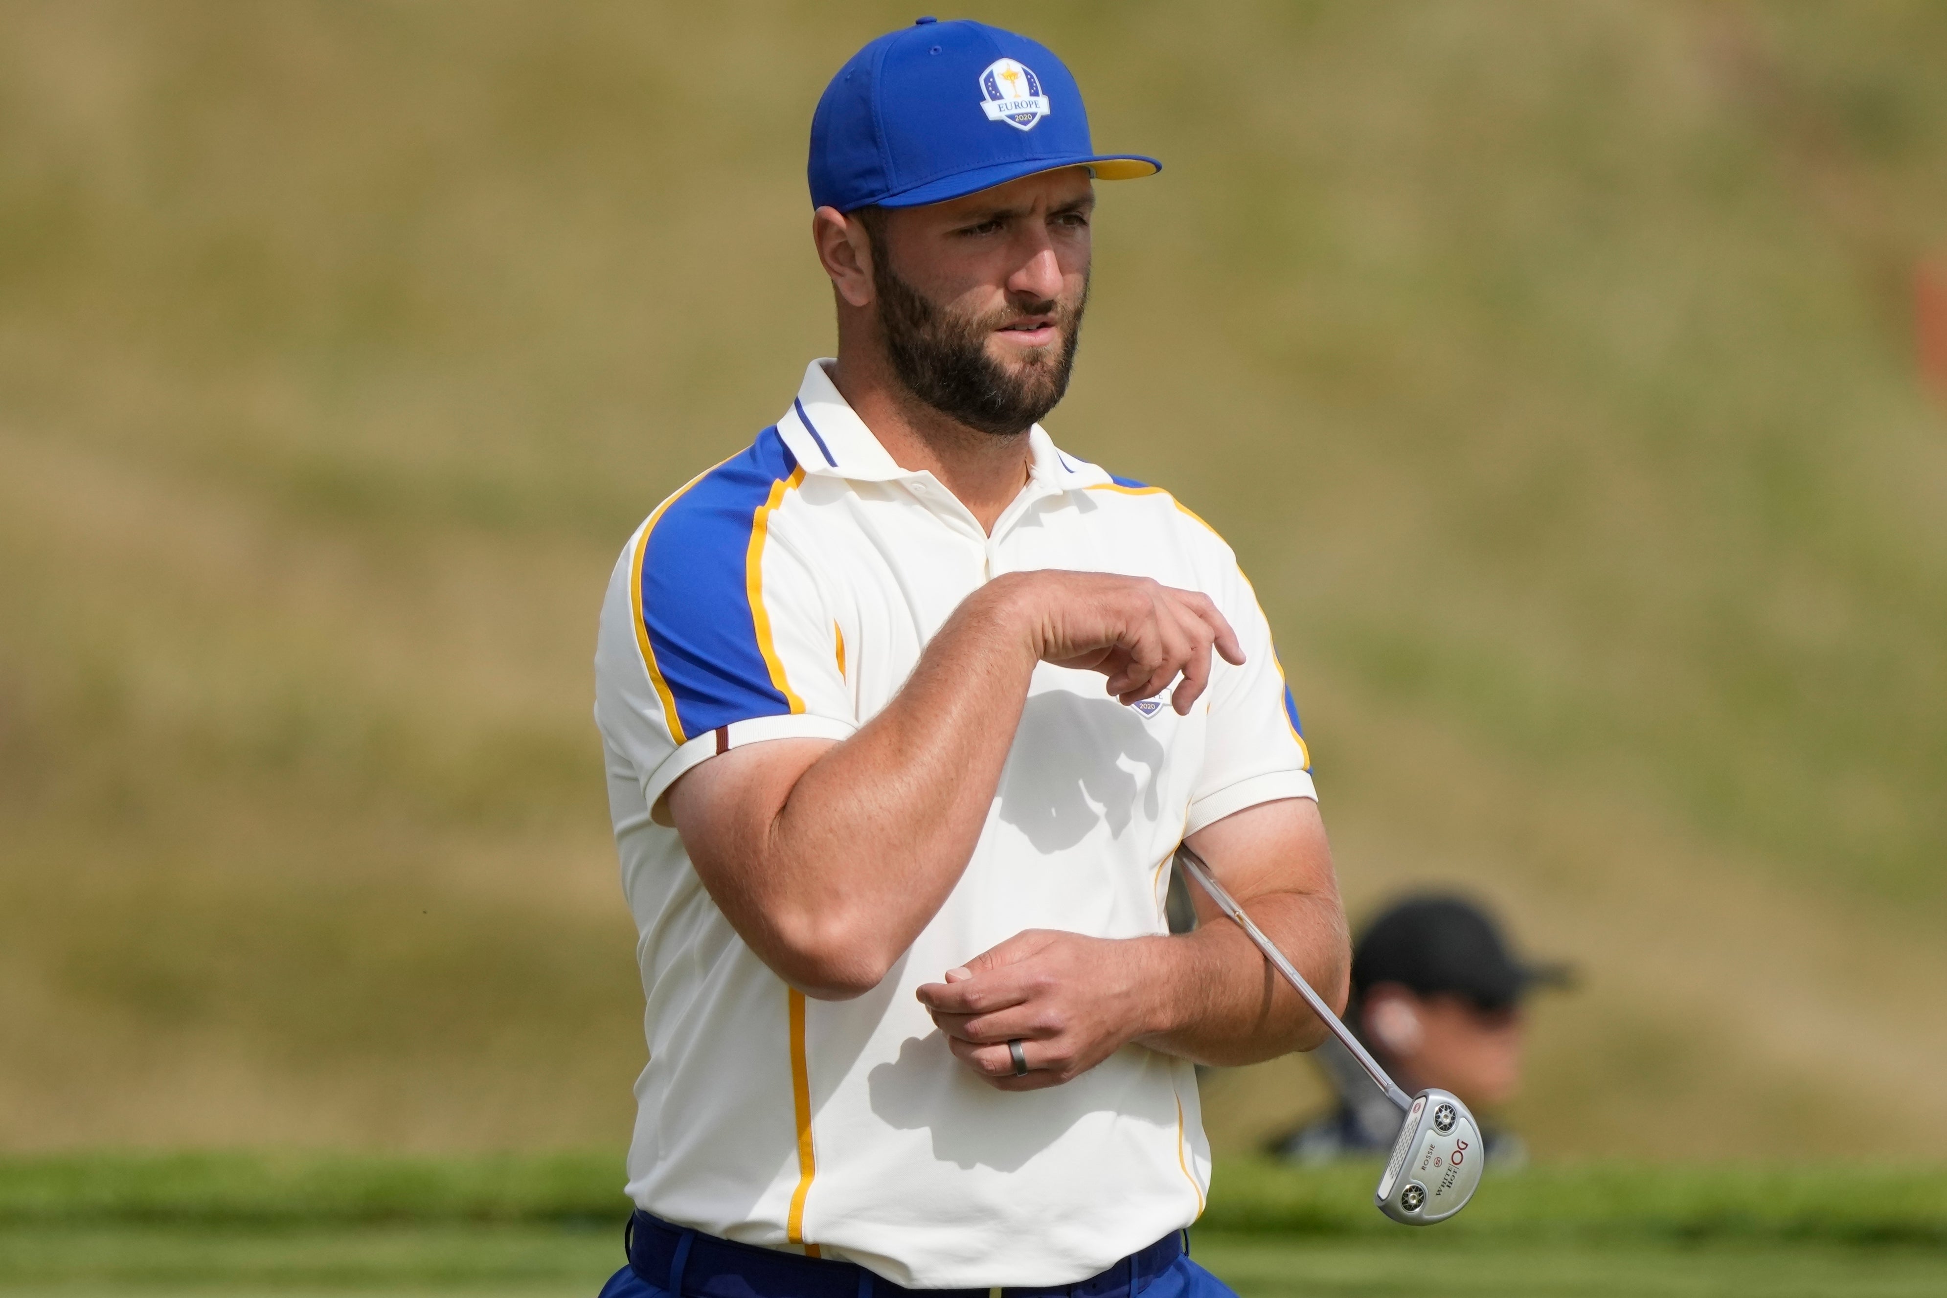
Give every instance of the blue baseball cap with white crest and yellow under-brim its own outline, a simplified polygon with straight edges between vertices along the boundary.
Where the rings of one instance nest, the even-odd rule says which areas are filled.
[[[911,208],[1088,167],[1155,175],[1141,154],[1098,154],[1083,91],[1040,41],[987,23],[921,18],[839,68],[812,115],[812,206]]]

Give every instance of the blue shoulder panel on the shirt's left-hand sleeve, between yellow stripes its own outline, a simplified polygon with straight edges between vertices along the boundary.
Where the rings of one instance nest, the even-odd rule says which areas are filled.
[[[757,512],[796,467],[777,428],[765,428],[742,455],[691,483],[650,527],[643,627],[683,739],[794,710],[757,640],[748,562]]]

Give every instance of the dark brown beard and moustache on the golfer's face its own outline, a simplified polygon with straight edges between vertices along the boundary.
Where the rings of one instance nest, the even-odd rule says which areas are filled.
[[[909,393],[940,415],[997,438],[1022,434],[1055,409],[1075,370],[1083,311],[1088,307],[1086,278],[1083,296],[1071,307],[1047,300],[968,315],[940,307],[886,263],[888,257],[872,259],[878,323],[892,372]],[[1061,344],[1024,358],[1009,372],[987,354],[987,337],[1024,315],[1051,315]]]

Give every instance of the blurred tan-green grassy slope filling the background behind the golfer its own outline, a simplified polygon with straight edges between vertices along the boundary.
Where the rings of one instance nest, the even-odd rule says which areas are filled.
[[[0,0],[0,1148],[619,1160],[596,607],[913,12]],[[966,12],[1166,162],[1049,426],[1236,545],[1355,917],[1581,967],[1536,1156],[1947,1156],[1947,10]]]

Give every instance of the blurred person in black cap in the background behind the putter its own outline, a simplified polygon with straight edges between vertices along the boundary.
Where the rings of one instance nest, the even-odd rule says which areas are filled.
[[[1509,952],[1474,903],[1406,897],[1353,946],[1345,1022],[1408,1094],[1439,1086],[1476,1113],[1491,1113],[1521,1090],[1526,994],[1565,981],[1561,965],[1525,963]],[[1295,1162],[1388,1152],[1400,1131],[1398,1107],[1336,1041],[1312,1057],[1338,1092],[1338,1107],[1275,1138],[1271,1152]],[[1519,1135],[1493,1127],[1484,1135],[1488,1166],[1526,1162]]]

